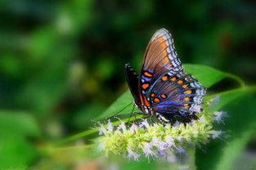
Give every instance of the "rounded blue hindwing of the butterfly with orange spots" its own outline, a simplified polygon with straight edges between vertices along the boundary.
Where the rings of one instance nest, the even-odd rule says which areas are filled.
[[[167,78],[161,78],[150,92],[155,96],[150,100],[155,111],[162,114],[200,112],[204,87],[190,74],[181,71],[164,76]],[[159,100],[155,102],[155,98]]]

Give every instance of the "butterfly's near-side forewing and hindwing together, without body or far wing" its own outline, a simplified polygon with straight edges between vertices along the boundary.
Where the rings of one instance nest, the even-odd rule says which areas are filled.
[[[204,87],[184,73],[173,38],[166,29],[156,31],[146,48],[138,88],[150,107],[167,119],[200,112],[205,94]]]

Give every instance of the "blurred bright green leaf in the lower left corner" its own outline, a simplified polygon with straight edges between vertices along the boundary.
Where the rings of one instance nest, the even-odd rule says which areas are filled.
[[[0,110],[0,168],[27,168],[37,155],[27,136],[39,135],[38,125],[29,114]]]

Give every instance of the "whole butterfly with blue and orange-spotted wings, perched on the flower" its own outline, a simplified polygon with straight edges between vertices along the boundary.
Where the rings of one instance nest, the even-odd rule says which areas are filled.
[[[142,114],[164,123],[189,123],[201,111],[205,87],[186,74],[172,35],[159,29],[146,47],[141,73],[125,65],[128,87]]]

